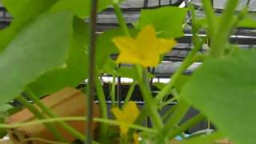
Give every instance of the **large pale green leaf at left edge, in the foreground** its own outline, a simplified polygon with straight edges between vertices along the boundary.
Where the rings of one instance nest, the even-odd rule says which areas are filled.
[[[22,93],[40,75],[66,66],[73,15],[45,14],[26,26],[0,54],[0,104]]]

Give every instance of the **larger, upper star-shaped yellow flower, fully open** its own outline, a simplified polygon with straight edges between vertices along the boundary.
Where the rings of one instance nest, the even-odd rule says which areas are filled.
[[[137,38],[117,37],[113,42],[120,51],[118,63],[140,64],[144,67],[157,66],[160,55],[176,45],[174,39],[157,38],[153,26],[143,27]]]

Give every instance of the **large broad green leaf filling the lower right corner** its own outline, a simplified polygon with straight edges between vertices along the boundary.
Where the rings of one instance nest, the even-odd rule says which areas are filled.
[[[227,58],[206,58],[182,90],[235,143],[255,143],[256,66],[254,50],[235,50]]]

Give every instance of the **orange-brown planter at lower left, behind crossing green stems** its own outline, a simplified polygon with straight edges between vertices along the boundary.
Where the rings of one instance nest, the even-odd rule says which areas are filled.
[[[42,102],[46,106],[57,114],[59,117],[66,116],[85,116],[86,114],[86,96],[82,94],[80,90],[67,87],[63,90],[58,91],[57,93],[51,94],[50,96],[43,98]],[[94,117],[98,117],[98,106],[94,104]],[[17,114],[12,115],[6,120],[7,123],[16,123],[16,122],[29,122],[36,119],[34,114],[30,113],[29,110],[24,109],[19,111]],[[86,122],[67,122],[74,129],[78,130],[81,133],[86,131]],[[70,135],[66,130],[62,129],[62,126],[59,126],[58,123],[54,123],[57,126],[58,131],[69,141],[73,142],[75,138]],[[94,129],[96,129],[97,123],[93,124]],[[18,127],[16,129],[11,129],[8,131],[10,139],[14,143],[27,143],[27,144],[41,144],[36,140],[24,142],[26,138],[43,138],[50,141],[56,141],[53,135],[49,130],[46,129],[46,126],[43,124],[38,124],[34,126],[27,127]]]

